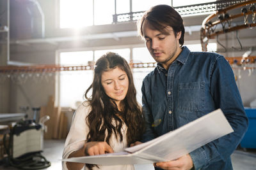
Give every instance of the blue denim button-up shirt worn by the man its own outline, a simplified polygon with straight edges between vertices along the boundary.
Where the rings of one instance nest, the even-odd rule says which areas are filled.
[[[230,155],[246,132],[248,118],[233,71],[223,56],[190,52],[184,46],[168,71],[157,64],[143,80],[141,90],[147,122],[143,142],[221,108],[234,132],[189,155],[195,169],[232,169]]]

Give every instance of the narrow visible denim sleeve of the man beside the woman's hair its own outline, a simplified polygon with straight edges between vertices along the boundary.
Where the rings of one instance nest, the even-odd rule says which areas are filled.
[[[156,135],[154,134],[154,129],[152,127],[152,113],[150,111],[150,108],[148,107],[147,102],[147,92],[145,92],[145,85],[148,85],[148,83],[145,83],[145,80],[143,80],[141,92],[142,92],[142,111],[145,118],[145,124],[146,124],[146,130],[143,133],[141,142],[147,142],[154,138],[156,138]]]

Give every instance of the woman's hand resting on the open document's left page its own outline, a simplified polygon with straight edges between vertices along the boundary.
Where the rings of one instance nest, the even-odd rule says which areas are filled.
[[[113,153],[113,149],[106,142],[88,142],[84,144],[85,155],[101,155],[104,153]]]

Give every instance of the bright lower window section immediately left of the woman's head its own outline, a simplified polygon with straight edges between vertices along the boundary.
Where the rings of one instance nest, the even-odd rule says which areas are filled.
[[[93,60],[93,52],[62,52],[60,64],[66,66],[88,65]],[[61,107],[76,108],[77,101],[84,101],[83,95],[91,85],[93,71],[61,71],[59,96]]]

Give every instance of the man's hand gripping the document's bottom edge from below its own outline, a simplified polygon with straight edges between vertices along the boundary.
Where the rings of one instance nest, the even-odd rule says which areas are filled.
[[[169,162],[157,162],[154,164],[156,167],[168,170],[189,170],[193,168],[193,162],[189,154],[180,157],[179,159]]]

